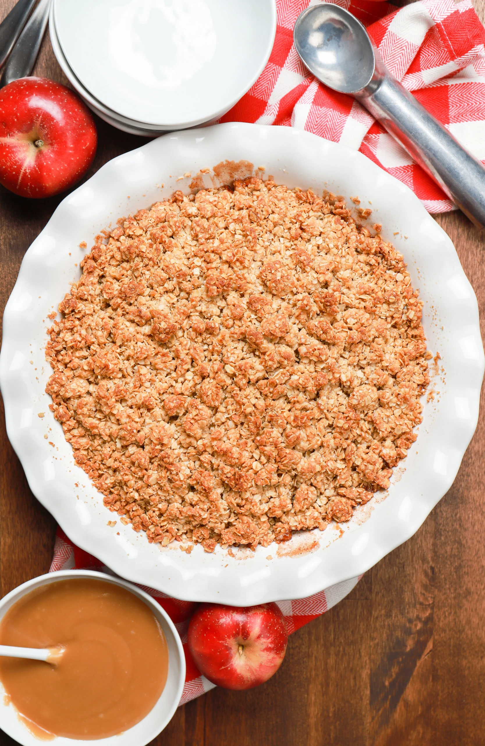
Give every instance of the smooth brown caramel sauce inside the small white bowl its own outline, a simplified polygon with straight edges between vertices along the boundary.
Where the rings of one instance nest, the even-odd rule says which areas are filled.
[[[55,665],[0,657],[5,696],[45,740],[128,730],[167,680],[167,642],[153,612],[104,580],[59,580],[28,593],[1,619],[0,644],[65,648]]]

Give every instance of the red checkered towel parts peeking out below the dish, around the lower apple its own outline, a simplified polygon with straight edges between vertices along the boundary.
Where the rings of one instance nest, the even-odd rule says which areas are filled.
[[[71,570],[73,568],[77,570],[97,570],[98,572],[112,574],[106,565],[103,565],[92,554],[88,554],[73,544],[67,538],[66,534],[60,528],[57,528],[54,558],[50,572]],[[358,577],[354,577],[352,580],[346,580],[345,583],[337,583],[336,586],[332,586],[326,589],[326,591],[316,593],[308,598],[300,598],[298,601],[279,601],[278,606],[285,615],[288,633],[296,632],[303,624],[307,624],[308,621],[332,609],[332,606],[338,604],[352,590],[357,581]],[[194,661],[191,659],[191,654],[188,652],[188,621],[197,604],[191,603],[191,601],[177,601],[176,598],[170,598],[165,593],[156,591],[153,588],[147,588],[147,586],[139,587],[149,593],[150,596],[153,596],[160,606],[165,609],[182,638],[183,650],[186,653],[187,671],[186,684],[183,688],[180,704],[185,704],[191,699],[209,692],[209,689],[214,689],[215,685],[200,674],[200,671],[197,670]]]

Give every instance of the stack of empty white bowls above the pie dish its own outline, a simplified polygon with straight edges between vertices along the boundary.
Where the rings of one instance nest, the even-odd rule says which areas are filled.
[[[146,137],[215,122],[259,78],[275,0],[52,0],[66,78],[105,122]]]

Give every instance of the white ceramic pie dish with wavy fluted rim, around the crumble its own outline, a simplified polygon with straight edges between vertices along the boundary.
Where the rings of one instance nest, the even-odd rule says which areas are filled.
[[[118,217],[175,189],[188,191],[191,178],[184,174],[226,159],[264,166],[288,186],[331,189],[347,200],[358,195],[361,207],[372,202],[370,222],[381,223],[383,236],[404,254],[424,301],[428,348],[441,357],[430,386],[439,394],[424,402],[415,447],[385,500],[373,498],[341,524],[342,536],[331,525],[235,557],[219,547],[206,554],[200,545],[185,554],[177,542],[162,549],[119,520],[108,527],[117,516],[75,466],[44,392],[51,372],[44,357],[47,314],[80,274],[80,242],[90,247]],[[357,151],[292,128],[244,123],[160,137],[110,161],[66,197],[25,254],[4,313],[0,357],[10,442],[32,491],[72,541],[128,580],[176,598],[232,605],[311,595],[363,573],[412,536],[457,474],[477,424],[483,374],[475,294],[451,240],[413,192]]]

